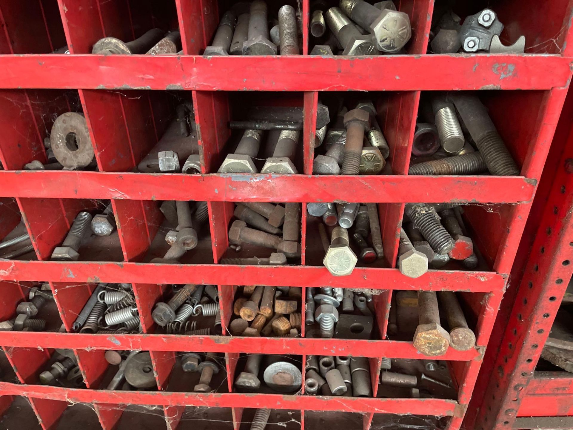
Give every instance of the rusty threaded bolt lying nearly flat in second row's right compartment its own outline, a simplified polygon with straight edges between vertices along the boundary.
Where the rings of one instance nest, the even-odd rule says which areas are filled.
[[[409,175],[473,175],[488,170],[480,153],[454,155],[438,160],[430,160],[408,169]]]

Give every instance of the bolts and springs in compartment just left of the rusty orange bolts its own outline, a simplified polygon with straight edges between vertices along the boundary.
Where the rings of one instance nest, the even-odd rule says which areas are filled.
[[[171,298],[155,303],[151,316],[167,334],[211,335],[222,331],[219,293],[213,285],[173,286]]]

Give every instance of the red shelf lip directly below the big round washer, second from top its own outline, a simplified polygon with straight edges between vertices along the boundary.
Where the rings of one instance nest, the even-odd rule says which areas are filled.
[[[527,204],[536,179],[476,176],[0,171],[0,197],[257,202]],[[46,183],[49,186],[46,186]],[[376,190],[376,192],[372,192]],[[456,196],[456,198],[452,198]]]

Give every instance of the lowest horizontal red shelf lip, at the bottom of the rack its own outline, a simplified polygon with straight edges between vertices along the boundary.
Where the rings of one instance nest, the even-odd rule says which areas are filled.
[[[33,398],[51,398],[74,403],[140,404],[140,405],[189,405],[210,407],[250,407],[272,409],[295,409],[298,411],[345,411],[399,413],[405,407],[412,408],[418,415],[434,415],[436,410],[443,415],[454,414],[458,402],[442,398],[376,398],[376,397],[326,397],[285,394],[246,394],[246,393],[187,393],[187,392],[149,392],[149,391],[107,391],[81,388],[54,387],[48,385],[13,384],[0,382],[3,394],[28,396]],[[91,400],[90,400],[91,396]],[[139,402],[138,402],[139,400]],[[252,403],[252,406],[249,406]],[[385,405],[387,405],[385,407]],[[342,409],[340,409],[342,408]],[[423,413],[426,411],[426,413]]]

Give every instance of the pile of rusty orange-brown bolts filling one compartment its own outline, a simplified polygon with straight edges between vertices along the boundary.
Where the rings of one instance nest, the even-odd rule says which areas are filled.
[[[245,286],[233,304],[233,336],[297,337],[301,331],[302,288]]]

